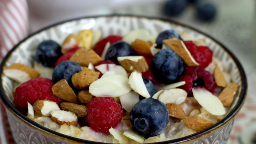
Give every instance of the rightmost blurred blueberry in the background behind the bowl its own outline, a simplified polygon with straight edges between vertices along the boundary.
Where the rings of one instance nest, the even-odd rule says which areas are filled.
[[[201,20],[212,20],[216,13],[216,6],[210,2],[200,2],[196,6],[197,16]]]

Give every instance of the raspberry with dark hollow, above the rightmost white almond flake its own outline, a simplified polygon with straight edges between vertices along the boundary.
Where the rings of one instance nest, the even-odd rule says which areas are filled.
[[[187,67],[183,75],[179,77],[179,81],[186,82],[180,88],[188,92],[188,95],[192,94],[192,87],[204,87],[210,92],[214,92],[216,87],[212,74],[201,67]]]

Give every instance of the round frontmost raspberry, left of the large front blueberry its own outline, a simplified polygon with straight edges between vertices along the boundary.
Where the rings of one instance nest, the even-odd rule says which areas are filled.
[[[87,105],[87,122],[98,132],[108,132],[122,120],[122,106],[111,97],[92,99]]]

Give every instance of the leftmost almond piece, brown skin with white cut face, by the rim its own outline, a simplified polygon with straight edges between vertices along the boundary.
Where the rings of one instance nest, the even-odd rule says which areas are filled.
[[[3,72],[5,76],[19,83],[24,83],[40,76],[40,73],[35,69],[19,63],[13,63],[11,66],[4,68]]]

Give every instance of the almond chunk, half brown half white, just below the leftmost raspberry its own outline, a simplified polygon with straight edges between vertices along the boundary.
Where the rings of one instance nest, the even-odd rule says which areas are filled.
[[[53,110],[60,110],[58,104],[51,100],[37,100],[33,105],[36,113],[43,116],[50,116]]]

